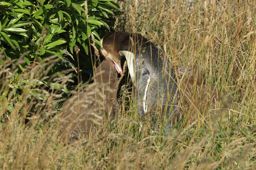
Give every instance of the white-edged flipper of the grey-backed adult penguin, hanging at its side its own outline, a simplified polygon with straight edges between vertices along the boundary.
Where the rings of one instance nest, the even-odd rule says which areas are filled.
[[[138,76],[139,75],[139,76]],[[138,115],[143,116],[144,113],[148,110],[147,103],[147,94],[148,94],[148,85],[150,82],[150,74],[146,68],[142,68],[140,73],[137,73],[138,76],[138,95],[137,95],[137,104],[138,104]]]

